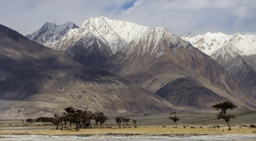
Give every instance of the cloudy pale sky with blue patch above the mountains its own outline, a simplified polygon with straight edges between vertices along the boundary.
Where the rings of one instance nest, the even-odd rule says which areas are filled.
[[[0,24],[23,35],[45,22],[80,26],[105,16],[149,27],[163,26],[180,36],[222,32],[256,34],[256,0],[1,0]]]

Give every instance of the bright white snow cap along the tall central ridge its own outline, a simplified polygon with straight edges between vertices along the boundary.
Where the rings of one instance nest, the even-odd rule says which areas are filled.
[[[123,47],[130,42],[135,41],[136,39],[141,39],[141,37],[146,34],[153,34],[153,32],[156,32],[159,35],[165,32],[173,36],[172,33],[163,27],[151,28],[121,20],[110,20],[106,17],[91,17],[90,19],[85,20],[80,28],[71,29],[67,32],[67,34],[60,39],[60,42],[53,46],[53,49],[58,50],[59,44],[64,44],[63,42],[71,45],[82,38],[83,40],[86,40],[89,38],[87,35],[90,34],[90,38],[91,36],[98,38],[105,45],[108,45],[114,54],[123,49]]]

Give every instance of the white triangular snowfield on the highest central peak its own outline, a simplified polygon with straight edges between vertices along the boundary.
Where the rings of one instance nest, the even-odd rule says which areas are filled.
[[[113,53],[118,52],[124,45],[149,29],[150,27],[121,20],[110,20],[106,17],[91,17],[80,27],[80,30],[88,30],[105,44],[109,44]]]

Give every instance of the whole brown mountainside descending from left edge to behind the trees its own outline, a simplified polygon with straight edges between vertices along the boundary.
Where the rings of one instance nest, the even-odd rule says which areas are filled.
[[[0,119],[52,117],[70,106],[108,116],[191,111],[125,78],[83,67],[3,25],[0,37]]]

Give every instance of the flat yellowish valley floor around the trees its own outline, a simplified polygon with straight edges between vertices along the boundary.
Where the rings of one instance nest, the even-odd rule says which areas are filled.
[[[239,115],[237,119],[244,117],[244,120],[231,121],[231,131],[227,130],[224,121],[214,119],[216,114],[196,113],[176,114],[180,117],[179,128],[173,128],[174,122],[166,119],[173,114],[128,116],[139,121],[138,128],[133,126],[127,128],[125,125],[126,128],[121,129],[117,124],[112,123],[114,117],[110,117],[104,128],[98,129],[94,126],[92,129],[79,131],[56,130],[49,122],[0,121],[0,140],[255,140],[256,128],[250,128],[250,125],[256,123],[254,121],[256,112],[232,112],[232,114]],[[192,120],[191,117],[196,118]],[[202,119],[208,117],[208,120],[199,117]],[[152,125],[153,121],[155,121],[154,125]],[[216,128],[217,124],[220,128]]]

